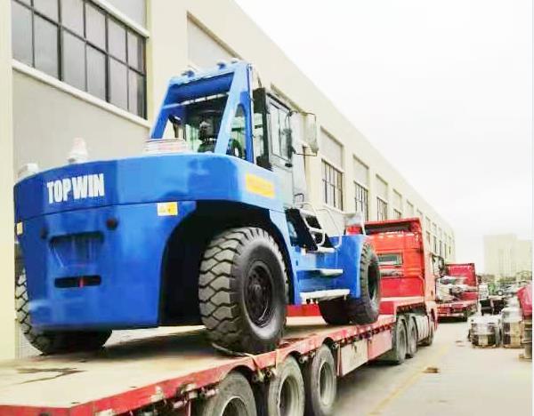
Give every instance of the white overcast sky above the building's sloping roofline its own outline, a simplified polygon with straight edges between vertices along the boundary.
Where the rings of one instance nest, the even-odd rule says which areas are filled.
[[[455,229],[530,238],[530,0],[237,0]]]

